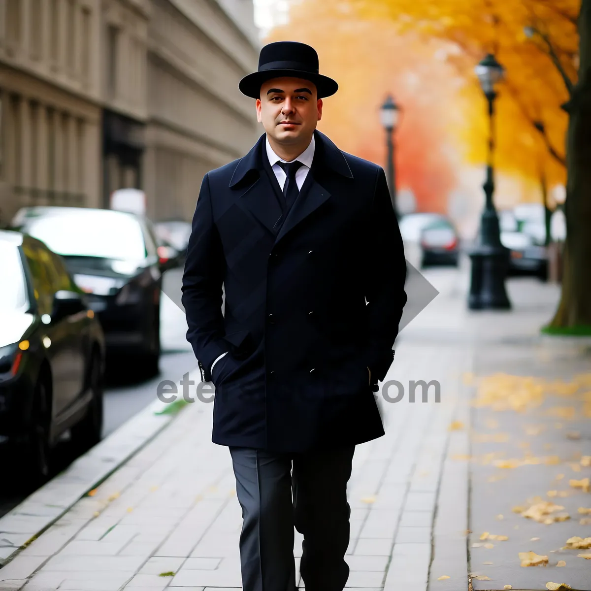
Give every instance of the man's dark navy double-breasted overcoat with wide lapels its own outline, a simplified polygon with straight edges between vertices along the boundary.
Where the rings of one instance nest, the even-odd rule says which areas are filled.
[[[203,178],[182,303],[215,385],[217,444],[297,453],[384,434],[367,367],[381,381],[394,356],[407,301],[400,229],[384,170],[314,139],[287,212],[265,134]]]

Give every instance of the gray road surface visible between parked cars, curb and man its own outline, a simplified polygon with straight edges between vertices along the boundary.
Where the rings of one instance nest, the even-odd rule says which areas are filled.
[[[180,293],[182,269],[171,269],[164,274],[163,292]],[[106,376],[103,438],[134,417],[139,411],[156,399],[159,382],[171,379],[177,382],[186,372],[196,366],[193,350],[186,340],[187,323],[183,311],[164,293],[160,310],[161,347],[160,374],[150,379],[138,379],[129,368],[111,370]],[[76,453],[69,441],[60,441],[54,453],[52,476],[64,470]],[[1,462],[2,475],[14,475],[6,463]],[[8,462],[9,465],[9,462]],[[0,483],[0,517],[20,504],[33,490],[14,492],[13,478],[2,478]],[[11,482],[12,481],[12,482]]]

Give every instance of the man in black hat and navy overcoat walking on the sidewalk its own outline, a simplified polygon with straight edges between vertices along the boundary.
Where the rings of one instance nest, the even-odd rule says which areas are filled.
[[[407,300],[384,171],[316,130],[338,88],[318,72],[310,46],[262,48],[239,88],[265,134],[206,174],[187,248],[187,340],[232,457],[245,591],[296,589],[294,525],[307,591],[345,586],[353,452],[384,435],[373,392]]]

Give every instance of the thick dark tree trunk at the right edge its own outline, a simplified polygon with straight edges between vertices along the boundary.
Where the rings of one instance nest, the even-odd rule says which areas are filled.
[[[579,80],[564,105],[569,128],[562,294],[550,327],[584,327],[591,334],[591,0],[582,0],[579,40]]]

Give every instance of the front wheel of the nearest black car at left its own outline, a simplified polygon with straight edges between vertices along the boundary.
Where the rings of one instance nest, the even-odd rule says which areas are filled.
[[[35,385],[31,424],[22,450],[25,485],[40,486],[51,472],[50,386],[47,374],[41,374]]]

